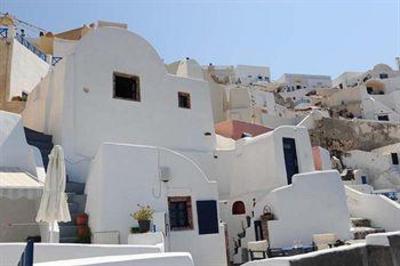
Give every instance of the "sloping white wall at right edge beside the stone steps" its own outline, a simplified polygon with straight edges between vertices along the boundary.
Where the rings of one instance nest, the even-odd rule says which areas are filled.
[[[375,194],[365,194],[346,186],[347,205],[351,216],[371,220],[373,226],[386,231],[400,230],[400,204]]]

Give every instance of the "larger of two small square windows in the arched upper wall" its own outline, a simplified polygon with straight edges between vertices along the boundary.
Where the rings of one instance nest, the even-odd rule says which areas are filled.
[[[139,77],[114,73],[114,98],[140,102]]]

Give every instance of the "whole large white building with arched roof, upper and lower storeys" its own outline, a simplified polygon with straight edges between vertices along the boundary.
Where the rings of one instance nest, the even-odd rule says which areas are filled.
[[[169,225],[170,251],[190,251],[196,265],[226,265],[216,183],[183,155],[164,150],[167,155],[158,157],[159,148],[122,144],[195,151],[213,160],[208,82],[197,63],[188,63],[169,74],[140,36],[98,25],[30,94],[24,122],[63,146],[70,180],[88,180],[86,211],[93,234],[117,230],[126,243],[133,223],[129,214],[136,204],[148,203],[168,214],[160,224]],[[171,173],[166,185],[158,177],[162,167]],[[177,204],[187,206],[190,224],[174,232],[171,206]],[[202,227],[209,219],[211,231]]]

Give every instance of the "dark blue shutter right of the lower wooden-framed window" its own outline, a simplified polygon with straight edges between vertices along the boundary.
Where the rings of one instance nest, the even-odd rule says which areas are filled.
[[[197,220],[199,222],[199,234],[218,234],[217,201],[198,200]]]

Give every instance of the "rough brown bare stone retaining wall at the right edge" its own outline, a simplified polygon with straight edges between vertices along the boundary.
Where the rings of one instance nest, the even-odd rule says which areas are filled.
[[[400,124],[370,120],[322,118],[309,130],[313,146],[332,154],[351,150],[371,151],[400,142]]]

